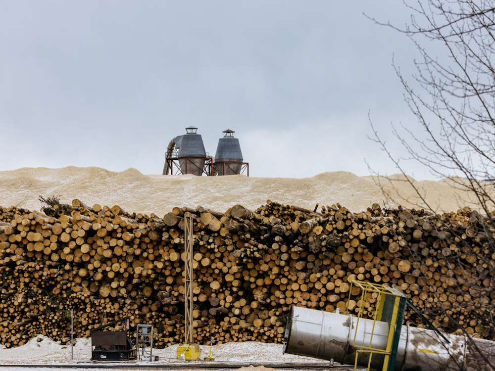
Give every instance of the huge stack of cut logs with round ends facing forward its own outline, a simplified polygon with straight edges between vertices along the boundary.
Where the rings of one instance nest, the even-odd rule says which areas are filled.
[[[183,339],[184,215],[195,216],[199,343],[281,342],[291,305],[357,311],[352,279],[395,285],[435,325],[494,338],[492,231],[469,209],[361,213],[267,201],[256,211],[174,208],[158,217],[119,206],[0,208],[0,343],[35,334],[70,340],[124,316],[157,328],[157,347]],[[351,290],[351,292],[349,292]],[[350,293],[350,300],[348,299]],[[375,294],[364,303],[373,315]],[[489,314],[489,316],[487,316]],[[406,321],[418,323],[412,313]]]

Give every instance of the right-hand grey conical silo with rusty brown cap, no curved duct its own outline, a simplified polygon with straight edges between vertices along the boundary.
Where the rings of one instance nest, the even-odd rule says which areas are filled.
[[[218,140],[213,167],[218,175],[239,174],[243,162],[243,153],[239,139],[234,138],[234,131],[227,129],[224,137]]]

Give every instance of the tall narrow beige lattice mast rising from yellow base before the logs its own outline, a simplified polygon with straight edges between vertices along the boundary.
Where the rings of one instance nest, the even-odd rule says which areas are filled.
[[[194,344],[193,336],[193,216],[184,216],[184,304],[185,304],[185,332],[184,343]]]

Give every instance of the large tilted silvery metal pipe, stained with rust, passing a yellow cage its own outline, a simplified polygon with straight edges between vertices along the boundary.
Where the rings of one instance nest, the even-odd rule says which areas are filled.
[[[385,349],[389,324],[336,313],[293,306],[289,316],[284,353],[334,359],[354,365],[356,346]],[[356,334],[356,326],[358,328]],[[354,343],[355,335],[355,343]],[[488,371],[495,365],[495,341],[445,334],[450,343],[433,330],[402,326],[396,371]],[[354,345],[353,345],[354,344]],[[367,367],[369,353],[359,353],[357,364]],[[383,356],[372,356],[372,368],[382,369]]]

